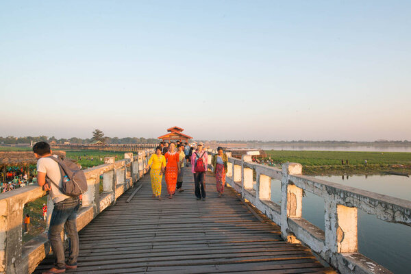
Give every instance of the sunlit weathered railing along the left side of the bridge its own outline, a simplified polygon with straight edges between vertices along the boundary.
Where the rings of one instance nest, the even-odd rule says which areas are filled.
[[[97,214],[114,204],[127,189],[144,175],[153,149],[138,155],[125,153],[125,159],[104,159],[104,164],[84,170],[88,190],[77,214],[77,230],[85,227]],[[101,176],[103,191],[100,191]],[[0,194],[0,273],[32,273],[49,253],[47,233],[22,243],[23,209],[26,203],[47,195],[40,186],[25,186]],[[53,211],[49,199],[47,220]]]

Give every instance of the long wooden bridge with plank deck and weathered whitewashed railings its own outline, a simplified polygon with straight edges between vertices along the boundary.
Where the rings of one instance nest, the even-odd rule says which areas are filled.
[[[208,176],[208,198],[197,201],[186,169],[186,191],[158,201],[144,176],[151,153],[105,158],[86,170],[78,268],[68,273],[390,273],[358,253],[357,209],[411,225],[410,201],[303,176],[300,164],[254,164],[247,155],[229,157],[225,197]],[[275,179],[281,204],[271,199]],[[304,190],[323,197],[325,231],[301,218]],[[36,186],[1,194],[0,273],[50,267],[46,234],[21,242],[24,205],[44,195]]]

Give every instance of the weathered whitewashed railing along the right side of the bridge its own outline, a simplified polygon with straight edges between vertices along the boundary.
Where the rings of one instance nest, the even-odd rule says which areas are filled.
[[[210,152],[209,160],[215,151]],[[272,179],[281,182],[280,204],[271,196]],[[304,176],[297,163],[276,169],[253,163],[251,155],[229,157],[226,182],[280,225],[285,240],[302,242],[340,273],[390,273],[358,252],[358,208],[383,221],[411,226],[411,201]],[[304,191],[323,199],[325,231],[302,218]]]

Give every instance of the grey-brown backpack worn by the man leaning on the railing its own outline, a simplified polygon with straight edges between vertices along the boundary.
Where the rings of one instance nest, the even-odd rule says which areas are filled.
[[[57,186],[57,188],[64,195],[77,197],[87,191],[86,175],[84,174],[84,171],[79,169],[77,164],[67,159],[60,160],[60,158],[55,158],[54,156],[49,156],[47,158],[51,158],[58,163],[60,172],[62,173],[63,186],[60,188],[60,186],[58,186],[58,184],[55,184],[52,179],[47,179],[49,179],[51,183]],[[69,180],[64,179],[64,175],[69,177]]]

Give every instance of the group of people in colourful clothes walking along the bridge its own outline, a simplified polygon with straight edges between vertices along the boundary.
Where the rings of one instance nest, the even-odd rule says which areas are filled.
[[[217,149],[211,164],[216,176],[216,188],[219,197],[223,195],[225,185],[225,173],[227,173],[227,155],[223,148]],[[206,171],[208,169],[208,153],[203,149],[203,143],[199,142],[196,149],[188,143],[161,142],[155,148],[155,153],[149,159],[146,172],[150,169],[151,188],[153,198],[161,200],[162,175],[166,177],[166,186],[169,199],[173,199],[175,192],[183,192],[183,171],[191,164],[191,172],[194,176],[195,197],[197,200],[206,199]]]

